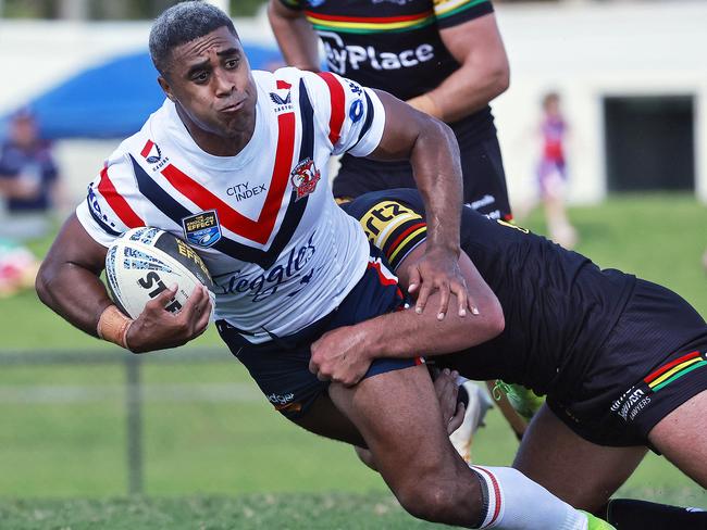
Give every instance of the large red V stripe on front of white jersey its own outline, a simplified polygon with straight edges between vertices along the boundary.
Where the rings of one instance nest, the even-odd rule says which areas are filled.
[[[222,226],[251,241],[265,244],[275,227],[283,195],[287,190],[293,153],[295,152],[295,114],[293,112],[281,114],[277,117],[277,148],[275,151],[277,154],[275,155],[273,176],[258,220],[252,220],[232,209],[172,164],[168,164],[162,169],[162,175],[179,193],[201,210],[215,210],[219,213],[219,222]]]

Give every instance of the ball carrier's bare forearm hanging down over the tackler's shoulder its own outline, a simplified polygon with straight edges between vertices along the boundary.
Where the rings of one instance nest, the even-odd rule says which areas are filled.
[[[459,226],[463,197],[459,146],[451,129],[429,121],[410,156],[427,220],[427,249],[459,255]]]

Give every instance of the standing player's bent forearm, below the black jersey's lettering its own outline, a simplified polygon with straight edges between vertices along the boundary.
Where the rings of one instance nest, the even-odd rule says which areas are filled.
[[[483,109],[494,98],[504,93],[508,85],[508,68],[503,65],[493,68],[463,65],[424,96],[430,98],[433,108],[436,108],[435,117],[452,123]],[[415,106],[413,100],[410,104]]]

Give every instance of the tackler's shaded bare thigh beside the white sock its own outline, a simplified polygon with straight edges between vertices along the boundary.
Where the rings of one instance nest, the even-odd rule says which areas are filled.
[[[595,512],[629,478],[646,449],[608,447],[582,439],[547,406],[523,434],[513,467],[578,508]]]

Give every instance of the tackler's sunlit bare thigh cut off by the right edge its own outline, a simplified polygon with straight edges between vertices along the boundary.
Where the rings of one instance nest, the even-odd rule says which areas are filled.
[[[703,488],[707,488],[707,390],[662,418],[648,440],[666,458]]]

